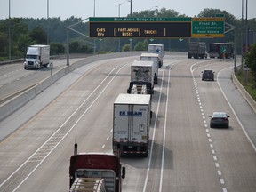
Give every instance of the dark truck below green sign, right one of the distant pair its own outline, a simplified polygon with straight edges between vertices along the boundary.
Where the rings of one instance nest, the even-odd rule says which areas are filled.
[[[209,47],[210,58],[230,59],[234,58],[233,44],[230,43],[211,43]]]

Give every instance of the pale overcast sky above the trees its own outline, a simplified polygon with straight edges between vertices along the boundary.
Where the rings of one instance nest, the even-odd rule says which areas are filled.
[[[130,0],[48,0],[49,17],[60,17],[65,20],[71,16],[86,19],[93,17],[94,2],[96,17],[126,17],[130,13]],[[9,17],[46,18],[47,0],[0,0],[0,19]],[[246,17],[246,0],[132,0],[132,12],[166,8],[173,9],[188,17],[196,16],[205,8],[220,9],[233,14],[236,19],[242,18],[242,2],[244,2],[244,18]],[[247,0],[248,19],[256,18],[256,0]],[[121,4],[119,6],[119,4]]]

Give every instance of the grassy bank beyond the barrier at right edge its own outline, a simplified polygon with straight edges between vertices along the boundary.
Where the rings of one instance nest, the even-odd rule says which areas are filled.
[[[252,96],[252,99],[256,101],[256,85],[255,80],[253,80],[252,73],[247,71],[247,78],[246,71],[240,69],[236,73],[236,78],[244,86],[244,89]],[[246,80],[247,79],[247,80]]]

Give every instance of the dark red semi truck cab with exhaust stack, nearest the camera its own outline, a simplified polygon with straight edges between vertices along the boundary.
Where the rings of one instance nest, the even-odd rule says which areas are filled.
[[[113,153],[77,153],[70,157],[69,192],[121,192],[125,167]]]

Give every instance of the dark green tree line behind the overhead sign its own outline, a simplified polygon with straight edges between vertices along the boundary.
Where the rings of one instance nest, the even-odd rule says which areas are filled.
[[[236,19],[236,17],[226,11],[219,9],[204,9],[196,17],[215,17],[216,14],[224,14],[225,22],[236,27],[236,44],[237,51],[242,52],[242,45],[244,41],[244,30],[242,26],[242,20]],[[176,17],[188,17],[184,14],[180,14],[174,10],[162,8],[160,10],[132,12],[127,17],[135,18],[176,18]],[[11,18],[6,20],[0,20],[0,60],[9,60],[9,27],[11,32],[11,55],[12,59],[22,58],[26,54],[27,47],[30,44],[49,44],[51,45],[51,54],[63,54],[66,51],[67,44],[67,27],[71,26],[79,21],[81,18],[74,16],[60,20],[59,18],[47,19],[32,19],[32,18]],[[9,26],[10,25],[10,26]],[[89,24],[88,22],[81,22],[74,27],[77,31],[84,33],[88,36]],[[248,28],[256,31],[256,19],[248,20]],[[193,41],[204,41],[206,44],[212,42],[233,42],[234,43],[234,31],[225,34],[224,38],[209,38],[209,39],[193,39]],[[166,51],[181,51],[186,52],[188,50],[188,39],[154,39],[150,42],[147,39],[136,38],[132,43],[128,38],[122,39],[104,39],[99,41],[92,38],[86,38],[75,32],[69,32],[69,52],[76,53],[88,53],[94,51],[94,44],[96,45],[96,52],[118,52],[118,51],[130,51],[131,44],[132,50],[144,51],[147,50],[148,43],[152,44],[164,44]],[[93,42],[95,41],[95,43]],[[192,41],[192,40],[191,40]],[[245,42],[245,41],[244,41]],[[120,49],[121,47],[121,49]]]

